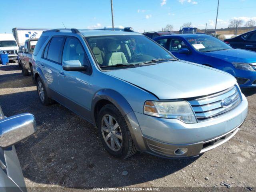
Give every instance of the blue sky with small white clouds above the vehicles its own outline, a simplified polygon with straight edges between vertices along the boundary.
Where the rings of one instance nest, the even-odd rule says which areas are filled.
[[[215,27],[218,0],[113,0],[114,25],[136,32],[179,30],[185,22]],[[217,28],[232,19],[256,21],[256,0],[220,0]],[[1,0],[0,33],[12,28],[94,29],[112,26],[110,0]]]

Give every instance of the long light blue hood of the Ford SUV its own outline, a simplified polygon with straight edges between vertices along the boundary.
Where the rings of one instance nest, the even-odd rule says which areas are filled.
[[[236,79],[226,72],[185,61],[110,70],[106,73],[147,90],[159,99],[208,95],[236,83]]]

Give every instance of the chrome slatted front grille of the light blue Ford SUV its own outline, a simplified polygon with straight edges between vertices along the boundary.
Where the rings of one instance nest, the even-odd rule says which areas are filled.
[[[228,106],[221,104],[226,98],[231,99]],[[232,110],[240,104],[241,96],[236,86],[232,86],[222,92],[188,100],[188,102],[192,106],[198,122],[200,122]]]

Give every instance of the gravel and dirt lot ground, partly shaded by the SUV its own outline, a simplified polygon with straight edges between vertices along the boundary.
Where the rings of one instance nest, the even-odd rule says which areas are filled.
[[[6,116],[30,112],[36,133],[16,145],[27,186],[256,186],[256,89],[244,91],[248,117],[240,131],[199,158],[168,160],[138,152],[127,160],[104,150],[97,129],[60,104],[42,106],[31,76],[17,63],[0,66],[0,105]],[[123,172],[128,174],[123,176]]]

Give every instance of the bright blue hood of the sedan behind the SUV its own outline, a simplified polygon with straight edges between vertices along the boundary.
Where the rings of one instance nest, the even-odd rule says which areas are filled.
[[[201,52],[204,55],[226,60],[228,62],[254,63],[256,52],[243,49],[229,49],[213,52]]]

